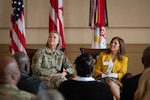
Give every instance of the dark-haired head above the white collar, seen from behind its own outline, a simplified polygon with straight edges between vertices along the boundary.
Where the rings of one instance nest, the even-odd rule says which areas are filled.
[[[77,75],[81,77],[89,77],[92,75],[94,60],[89,54],[82,54],[75,60]]]

